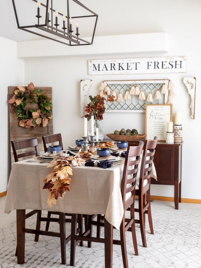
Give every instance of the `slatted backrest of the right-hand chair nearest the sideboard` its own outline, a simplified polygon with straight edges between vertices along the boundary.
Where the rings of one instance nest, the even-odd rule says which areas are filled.
[[[139,196],[143,193],[144,180],[148,180],[149,184],[151,182],[152,163],[154,160],[154,154],[157,142],[158,138],[156,136],[154,137],[153,140],[145,141],[143,148],[141,169],[140,169]],[[149,158],[148,160],[147,157]],[[146,165],[148,166],[146,167]]]

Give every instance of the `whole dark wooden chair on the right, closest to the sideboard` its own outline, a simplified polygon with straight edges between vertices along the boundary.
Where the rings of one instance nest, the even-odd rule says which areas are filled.
[[[140,169],[140,178],[139,181],[136,182],[135,189],[135,195],[139,197],[139,208],[135,208],[135,212],[139,213],[139,220],[135,220],[135,223],[140,224],[143,247],[147,247],[145,235],[146,214],[148,214],[150,232],[151,234],[154,234],[151,214],[150,186],[152,163],[157,142],[158,138],[156,136],[153,140],[145,141]],[[130,208],[128,208],[128,210],[130,210]]]

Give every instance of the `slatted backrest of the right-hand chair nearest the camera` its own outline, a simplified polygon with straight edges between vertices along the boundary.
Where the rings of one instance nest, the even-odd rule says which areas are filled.
[[[122,195],[124,204],[125,204],[126,194],[130,192],[132,194],[132,191],[135,189],[135,183],[136,183],[137,172],[138,172],[138,164],[140,162],[140,155],[142,153],[143,146],[144,146],[144,142],[140,141],[139,146],[129,146],[127,149],[123,176],[122,176],[122,181],[121,181],[121,195]],[[135,157],[135,160],[130,159],[131,157]],[[134,166],[134,167],[132,167],[132,169],[129,169],[130,166]],[[130,184],[128,188],[127,188],[127,184]]]

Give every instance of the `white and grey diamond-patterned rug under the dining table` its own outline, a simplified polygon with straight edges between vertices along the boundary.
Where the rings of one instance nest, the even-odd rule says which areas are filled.
[[[137,214],[137,213],[136,213]],[[128,214],[129,215],[129,214]],[[43,211],[43,216],[46,212]],[[196,268],[201,267],[201,213],[190,214],[174,211],[162,211],[152,208],[152,219],[155,234],[149,233],[146,222],[147,248],[142,247],[139,226],[136,225],[139,256],[134,255],[131,233],[126,233],[129,268]],[[26,220],[27,228],[35,228],[36,216]],[[45,222],[41,223],[44,230]],[[66,223],[66,236],[70,234],[71,224]],[[50,223],[52,231],[59,230],[58,223]],[[104,230],[101,234],[103,237]],[[96,236],[96,227],[93,235]],[[114,230],[114,239],[119,239],[119,231]],[[60,239],[40,236],[34,242],[34,235],[26,234],[25,263],[17,264],[16,222],[7,228],[0,229],[0,267],[66,267],[70,264],[70,242],[66,245],[66,265],[61,264]],[[77,268],[104,268],[104,244],[92,243],[91,248],[76,247],[75,266]],[[121,247],[113,245],[113,267],[123,267]]]

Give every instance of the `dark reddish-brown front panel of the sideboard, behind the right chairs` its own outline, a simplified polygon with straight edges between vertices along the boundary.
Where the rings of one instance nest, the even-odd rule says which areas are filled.
[[[174,146],[157,145],[154,155],[154,166],[157,181],[151,179],[152,184],[174,185]]]

